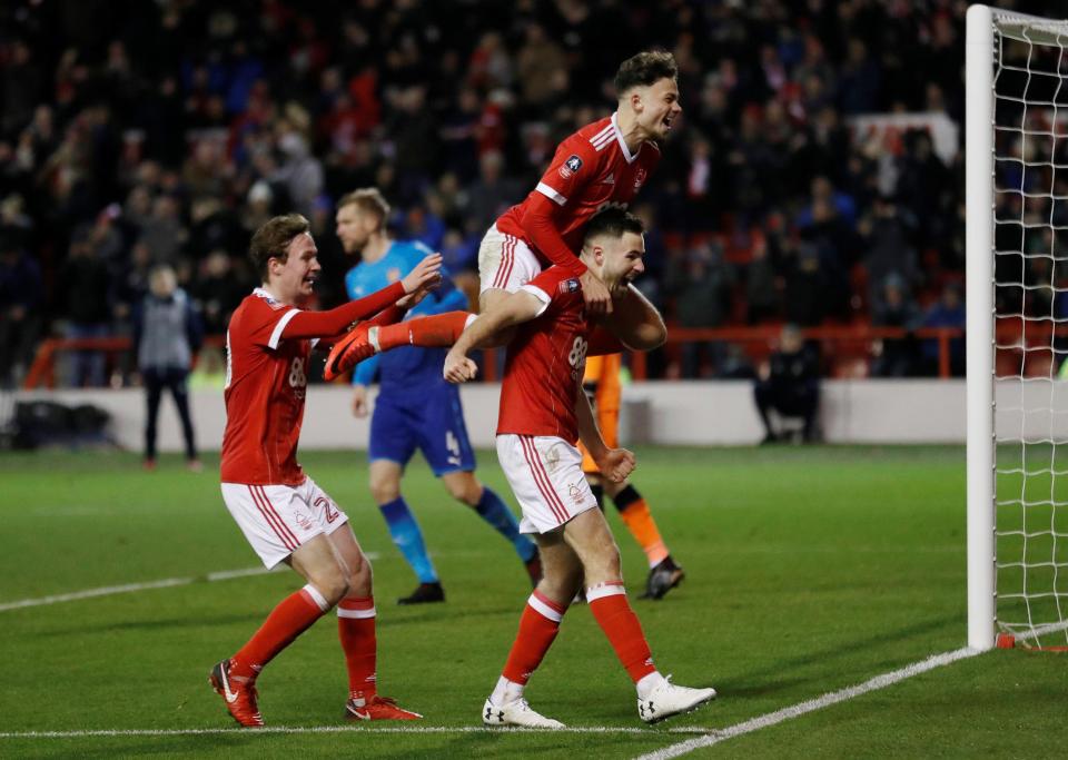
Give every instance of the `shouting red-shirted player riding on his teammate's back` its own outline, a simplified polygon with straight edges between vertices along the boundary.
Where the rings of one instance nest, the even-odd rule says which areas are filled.
[[[651,351],[668,335],[663,320],[636,288],[612,297],[577,251],[584,227],[599,210],[625,207],[660,162],[656,140],[668,137],[682,112],[678,67],[670,52],[646,51],[626,59],[615,75],[616,111],[567,137],[523,203],[505,211],[478,249],[482,310],[531,282],[550,265],[581,284],[589,313],[605,330],[592,336],[595,353]],[[379,335],[369,326],[350,334],[327,363],[327,379],[366,356],[398,345],[452,345],[466,324],[462,312],[412,323],[411,332]],[[495,336],[495,345],[511,333]],[[622,346],[620,345],[622,343]],[[345,354],[345,355],[343,355]]]

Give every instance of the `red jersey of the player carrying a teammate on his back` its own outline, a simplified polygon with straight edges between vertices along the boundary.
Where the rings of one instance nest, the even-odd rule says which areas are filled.
[[[553,435],[574,443],[575,399],[590,347],[582,285],[566,269],[550,267],[522,289],[544,308],[520,325],[508,344],[497,434]]]

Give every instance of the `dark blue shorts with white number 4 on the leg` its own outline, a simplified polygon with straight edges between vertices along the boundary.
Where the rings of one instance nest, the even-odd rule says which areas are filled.
[[[475,453],[467,440],[455,386],[443,385],[418,396],[392,394],[388,389],[378,394],[370,418],[370,461],[390,460],[406,465],[416,448],[438,477],[474,471]]]

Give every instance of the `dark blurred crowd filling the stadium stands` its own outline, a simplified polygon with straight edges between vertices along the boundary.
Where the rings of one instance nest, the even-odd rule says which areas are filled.
[[[1000,3],[1011,4],[1011,3]],[[377,186],[461,276],[621,60],[674,52],[684,107],[634,210],[669,324],[963,324],[962,0],[18,0],[0,8],[0,369],[47,335],[128,334],[166,263],[208,334],[249,235],[306,215],[344,299],[334,201]],[[1034,9],[1026,9],[1034,10]],[[948,117],[857,129],[866,113]],[[871,364],[931,372],[902,340]],[[745,376],[691,344],[654,373]],[[959,367],[958,367],[959,369]],[[79,382],[101,384],[87,362]]]

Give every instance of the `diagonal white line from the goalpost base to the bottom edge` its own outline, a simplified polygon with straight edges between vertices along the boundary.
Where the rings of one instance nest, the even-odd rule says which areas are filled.
[[[927,660],[913,662],[911,665],[907,665],[900,670],[877,675],[876,678],[864,681],[856,687],[849,687],[848,689],[842,689],[840,691],[832,691],[823,694],[822,697],[817,697],[815,699],[810,699],[805,702],[800,702],[775,712],[769,712],[764,715],[752,718],[742,723],[735,723],[734,726],[725,729],[715,729],[709,732],[706,736],[698,737],[696,739],[689,739],[686,741],[679,742],[678,744],[672,744],[671,747],[656,750],[655,752],[649,752],[647,754],[639,756],[636,760],[668,760],[669,758],[678,758],[682,754],[686,754],[688,752],[692,752],[693,750],[702,749],[704,747],[712,747],[713,744],[719,744],[721,741],[726,741],[728,739],[733,739],[734,737],[759,731],[760,729],[765,729],[769,726],[781,723],[785,720],[790,720],[791,718],[798,718],[799,715],[803,715],[808,712],[822,710],[823,708],[832,704],[838,704],[839,702],[844,702],[853,699],[854,697],[867,694],[870,691],[886,689],[889,685],[906,679],[910,679],[913,675],[919,675],[920,673],[926,673],[929,670],[934,670],[936,668],[941,668],[942,665],[948,665],[951,662],[957,662],[958,660],[963,660],[981,653],[981,650],[965,648],[955,650],[952,652],[934,654]]]

